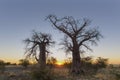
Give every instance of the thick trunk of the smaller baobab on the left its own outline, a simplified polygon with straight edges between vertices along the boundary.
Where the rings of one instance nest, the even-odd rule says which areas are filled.
[[[45,54],[45,45],[40,45],[40,54],[39,54],[39,65],[40,69],[44,69],[46,67],[46,54]]]

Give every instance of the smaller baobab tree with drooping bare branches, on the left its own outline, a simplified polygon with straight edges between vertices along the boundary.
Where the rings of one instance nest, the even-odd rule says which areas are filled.
[[[46,66],[46,53],[49,53],[48,47],[54,43],[50,34],[38,33],[33,31],[30,38],[24,40],[26,44],[26,54],[27,57],[33,56],[40,68],[45,68]]]

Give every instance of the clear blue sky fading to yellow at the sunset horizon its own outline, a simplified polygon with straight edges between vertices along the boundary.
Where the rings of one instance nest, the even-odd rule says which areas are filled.
[[[109,58],[109,63],[120,64],[120,0],[0,0],[0,59],[17,61],[24,58],[23,40],[32,30],[50,33],[56,45],[51,56],[64,60],[66,54],[58,45],[63,34],[53,29],[45,18],[88,18],[91,27],[99,27],[104,36],[93,52],[85,55]]]

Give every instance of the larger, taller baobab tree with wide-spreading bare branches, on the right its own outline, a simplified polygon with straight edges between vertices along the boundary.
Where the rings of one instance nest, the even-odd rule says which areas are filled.
[[[88,28],[90,20],[74,19],[72,16],[58,18],[55,15],[49,15],[47,19],[52,23],[53,27],[64,33],[65,37],[62,44],[66,51],[72,53],[72,69],[73,73],[80,73],[81,53],[86,49],[92,51],[90,44],[97,44],[102,37],[97,28]]]

